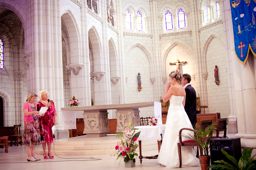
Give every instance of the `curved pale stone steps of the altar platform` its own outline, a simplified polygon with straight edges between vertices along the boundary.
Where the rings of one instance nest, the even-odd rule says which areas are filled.
[[[117,142],[118,139],[115,136],[99,138],[72,137],[59,139],[54,142],[54,146],[52,144],[52,154],[54,155],[53,149],[58,156],[116,154],[115,147]],[[137,141],[136,143],[138,144],[139,142]],[[142,141],[141,145],[142,151],[158,149],[157,141]],[[139,153],[139,147],[136,151]],[[35,153],[43,154],[41,145],[36,147]]]

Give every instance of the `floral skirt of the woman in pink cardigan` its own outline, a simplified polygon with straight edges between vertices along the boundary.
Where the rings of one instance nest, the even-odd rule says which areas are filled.
[[[41,144],[38,121],[24,122],[23,144],[27,146]]]

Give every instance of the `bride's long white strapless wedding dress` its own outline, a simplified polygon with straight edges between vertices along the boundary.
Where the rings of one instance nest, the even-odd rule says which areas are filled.
[[[157,158],[157,162],[166,166],[166,168],[180,167],[178,154],[179,131],[182,128],[193,129],[182,105],[183,100],[184,96],[172,95],[170,98],[170,107],[168,110],[163,142]],[[193,135],[192,131],[182,131],[182,134],[187,135],[188,133]],[[182,137],[182,141],[185,140],[188,139]],[[200,164],[192,146],[181,147],[181,158],[182,167],[198,166]]]

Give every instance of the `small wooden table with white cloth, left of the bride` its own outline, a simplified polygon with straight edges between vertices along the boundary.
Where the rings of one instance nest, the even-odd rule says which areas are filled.
[[[140,163],[142,163],[142,159],[157,159],[158,155],[155,156],[142,156],[141,153],[141,140],[157,140],[158,152],[160,151],[162,144],[162,136],[164,136],[165,125],[157,125],[157,126],[136,126],[137,130],[135,133],[140,131],[139,140],[139,149],[140,149]]]

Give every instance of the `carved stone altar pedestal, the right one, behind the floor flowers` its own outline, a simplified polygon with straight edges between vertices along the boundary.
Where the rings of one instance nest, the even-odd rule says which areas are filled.
[[[129,123],[131,124],[131,129],[135,126],[140,126],[140,110],[138,108],[130,108],[129,110],[117,110],[116,111],[116,133],[124,131],[124,127],[129,129]]]

